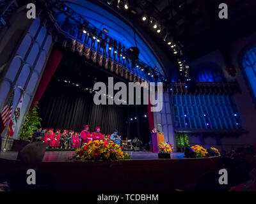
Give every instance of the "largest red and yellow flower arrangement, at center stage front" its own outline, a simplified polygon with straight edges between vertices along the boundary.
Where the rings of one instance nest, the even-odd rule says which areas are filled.
[[[122,147],[115,145],[111,140],[109,141],[99,141],[95,140],[76,149],[76,154],[72,159],[76,160],[110,160],[110,161],[119,161],[123,159],[130,159],[127,153],[123,152]]]

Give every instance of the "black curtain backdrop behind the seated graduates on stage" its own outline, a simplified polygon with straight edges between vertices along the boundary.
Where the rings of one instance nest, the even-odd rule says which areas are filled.
[[[85,88],[92,88],[96,81],[107,82],[111,76],[84,63],[84,57],[67,49],[61,51],[64,55],[60,66],[39,101],[42,128],[81,131],[84,124],[89,124],[90,132],[100,126],[101,133],[111,134],[117,128],[123,140],[138,137],[147,143],[147,105],[95,105],[93,93]]]

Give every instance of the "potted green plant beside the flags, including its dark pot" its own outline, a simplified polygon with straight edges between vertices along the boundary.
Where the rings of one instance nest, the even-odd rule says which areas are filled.
[[[41,118],[38,117],[38,102],[35,103],[35,106],[29,110],[28,114],[24,118],[24,123],[22,124],[19,140],[13,141],[12,150],[19,151],[31,140],[33,131],[41,126]]]

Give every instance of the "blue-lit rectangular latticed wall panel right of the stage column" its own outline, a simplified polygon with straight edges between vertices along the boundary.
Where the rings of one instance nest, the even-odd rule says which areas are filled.
[[[176,128],[239,129],[236,105],[229,95],[173,95]]]

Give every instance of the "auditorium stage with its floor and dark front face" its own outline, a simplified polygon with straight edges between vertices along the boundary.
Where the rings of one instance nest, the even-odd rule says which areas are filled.
[[[37,172],[54,182],[56,191],[173,191],[193,184],[203,173],[220,169],[220,156],[186,159],[157,159],[152,152],[128,152],[124,161],[67,161],[74,152],[45,152]],[[12,177],[24,168],[17,152],[1,152],[0,175]]]

